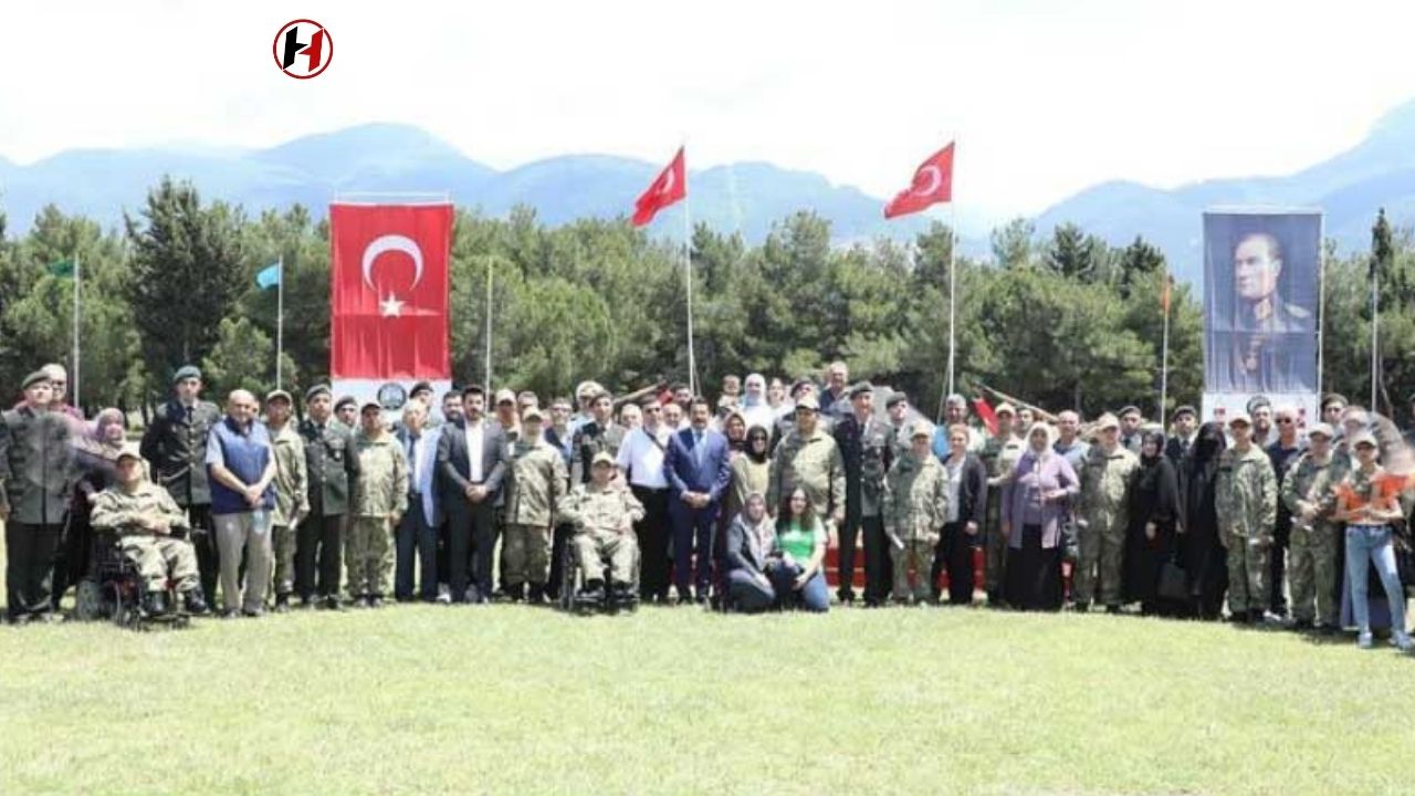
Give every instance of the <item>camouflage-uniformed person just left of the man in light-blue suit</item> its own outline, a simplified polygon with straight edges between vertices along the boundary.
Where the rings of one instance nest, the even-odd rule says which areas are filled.
[[[393,527],[408,510],[408,457],[392,433],[383,429],[383,408],[376,401],[359,406],[354,435],[359,477],[350,504],[350,538],[344,548],[350,601],[378,608],[393,579]]]

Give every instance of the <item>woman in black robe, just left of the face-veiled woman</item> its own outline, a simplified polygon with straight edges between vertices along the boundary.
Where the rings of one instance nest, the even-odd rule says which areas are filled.
[[[1139,602],[1140,613],[1173,616],[1182,605],[1162,601],[1159,575],[1174,558],[1174,525],[1179,520],[1179,474],[1165,456],[1165,435],[1148,431],[1140,438],[1140,466],[1126,494],[1125,602]]]

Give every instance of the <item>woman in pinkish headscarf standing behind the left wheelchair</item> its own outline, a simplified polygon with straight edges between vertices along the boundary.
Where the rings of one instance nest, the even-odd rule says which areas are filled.
[[[54,601],[78,584],[89,565],[89,548],[93,545],[93,530],[89,525],[89,508],[103,491],[117,479],[117,453],[127,440],[123,412],[103,409],[85,423],[85,432],[74,436],[74,462],[79,469],[79,480],[74,489],[74,503],[69,507],[69,528],[54,568]]]

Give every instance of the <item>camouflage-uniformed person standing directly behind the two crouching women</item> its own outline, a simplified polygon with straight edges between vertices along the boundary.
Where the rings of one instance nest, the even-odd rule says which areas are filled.
[[[845,459],[835,439],[819,423],[821,405],[814,395],[795,406],[795,429],[777,445],[767,480],[767,508],[775,511],[781,497],[801,487],[815,516],[835,533],[845,521]]]

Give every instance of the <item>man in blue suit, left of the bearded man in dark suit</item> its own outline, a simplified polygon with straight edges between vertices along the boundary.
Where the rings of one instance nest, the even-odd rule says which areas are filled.
[[[408,511],[398,523],[398,565],[393,575],[393,599],[413,599],[413,561],[416,555],[423,602],[437,599],[437,528],[441,507],[437,504],[437,439],[440,428],[427,426],[427,405],[409,401],[398,429],[398,446],[408,462]]]

